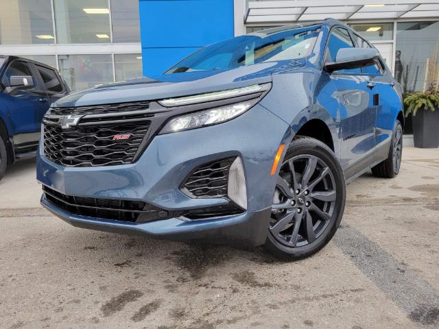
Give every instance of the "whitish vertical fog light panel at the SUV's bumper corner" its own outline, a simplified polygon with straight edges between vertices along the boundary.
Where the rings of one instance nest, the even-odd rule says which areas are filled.
[[[246,176],[244,175],[244,167],[239,157],[233,161],[228,171],[227,195],[235,204],[243,209],[247,209]]]

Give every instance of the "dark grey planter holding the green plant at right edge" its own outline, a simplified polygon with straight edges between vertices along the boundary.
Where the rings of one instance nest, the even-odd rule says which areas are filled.
[[[420,109],[413,120],[414,147],[434,149],[439,147],[439,109]]]

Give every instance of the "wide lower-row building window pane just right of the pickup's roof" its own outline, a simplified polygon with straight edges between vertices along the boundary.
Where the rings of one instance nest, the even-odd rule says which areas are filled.
[[[113,81],[111,55],[60,55],[58,61],[71,90]]]

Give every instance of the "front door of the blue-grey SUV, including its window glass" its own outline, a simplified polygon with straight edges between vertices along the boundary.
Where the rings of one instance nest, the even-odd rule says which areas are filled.
[[[337,51],[355,47],[344,27],[331,29],[324,62],[335,62]],[[368,77],[361,69],[346,69],[327,73],[336,88],[333,97],[340,104],[340,162],[346,179],[359,173],[373,162],[377,108]]]

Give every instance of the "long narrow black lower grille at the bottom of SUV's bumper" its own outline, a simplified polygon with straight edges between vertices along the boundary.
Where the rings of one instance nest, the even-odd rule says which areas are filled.
[[[45,199],[73,215],[144,223],[170,218],[169,212],[139,201],[73,197],[43,186]]]

